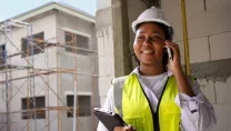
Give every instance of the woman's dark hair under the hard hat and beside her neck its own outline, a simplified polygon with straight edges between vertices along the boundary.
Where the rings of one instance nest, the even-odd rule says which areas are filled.
[[[169,32],[169,27],[164,26],[163,23],[159,23],[159,22],[142,22],[142,23],[139,23],[137,27],[135,27],[135,31],[143,24],[143,23],[154,23],[157,26],[159,26],[164,34],[165,34],[165,40],[171,40],[171,34]],[[138,60],[137,56],[134,54],[134,60],[138,62],[138,64],[140,66],[140,61]],[[163,71],[167,71],[168,68],[167,68],[167,64],[168,64],[168,61],[169,61],[169,57],[168,57],[168,52],[164,51],[163,52],[163,60],[162,60],[162,64],[163,64]]]

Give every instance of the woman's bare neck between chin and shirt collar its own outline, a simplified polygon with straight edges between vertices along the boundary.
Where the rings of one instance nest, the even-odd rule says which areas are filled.
[[[145,64],[141,64],[139,67],[139,71],[142,75],[159,75],[161,73],[163,73],[163,67],[153,67],[153,66],[145,66]]]

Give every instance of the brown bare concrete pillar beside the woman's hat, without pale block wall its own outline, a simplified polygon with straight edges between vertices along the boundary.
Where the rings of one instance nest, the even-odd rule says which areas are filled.
[[[112,27],[114,48],[116,77],[129,74],[132,71],[129,49],[128,0],[112,0]]]

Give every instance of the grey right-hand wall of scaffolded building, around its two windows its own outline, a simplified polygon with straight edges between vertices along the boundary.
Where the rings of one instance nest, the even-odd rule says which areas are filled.
[[[62,12],[57,13],[57,24],[58,24],[58,32],[62,37],[64,36],[64,31],[77,33],[80,36],[84,36],[89,38],[89,49],[97,51],[97,42],[96,42],[96,27],[94,23],[81,20],[79,18],[72,17],[70,14],[66,14]],[[64,39],[60,40],[61,43],[64,44]],[[78,44],[78,43],[77,43]],[[93,74],[98,73],[98,60],[92,59],[92,57],[97,57],[97,53],[89,53],[89,56],[82,54],[74,54],[72,52],[67,52],[64,48],[59,49],[59,66],[67,69],[76,68],[77,62],[77,72],[81,73],[77,75],[77,87],[78,87],[78,94],[83,95],[91,95],[92,103],[99,105],[99,94],[98,94],[98,84],[97,79],[93,78]],[[77,61],[74,59],[77,58]],[[84,74],[84,75],[83,75]],[[73,74],[62,74],[62,92],[73,92]],[[94,92],[92,93],[92,90]],[[67,101],[66,94],[62,95],[62,99]],[[92,105],[97,107],[97,105]],[[94,128],[93,123],[93,114],[92,117],[80,117],[80,131],[92,131]],[[63,130],[73,130],[72,129],[72,118],[67,118],[67,111],[62,111],[62,122],[63,122]]]

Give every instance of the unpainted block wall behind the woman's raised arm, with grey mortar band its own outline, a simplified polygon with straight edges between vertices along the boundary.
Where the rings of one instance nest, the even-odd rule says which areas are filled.
[[[161,0],[161,8],[175,29],[174,41],[184,64],[181,0]],[[229,0],[185,0],[191,72],[213,103],[218,124],[210,131],[230,130],[230,31]],[[197,8],[195,8],[197,7]]]

